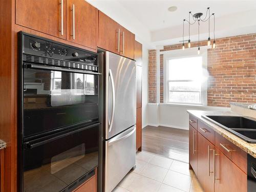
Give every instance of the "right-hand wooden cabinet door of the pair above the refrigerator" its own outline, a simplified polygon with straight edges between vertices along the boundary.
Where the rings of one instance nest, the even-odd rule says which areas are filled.
[[[127,29],[121,27],[120,37],[120,54],[134,59],[135,35]]]

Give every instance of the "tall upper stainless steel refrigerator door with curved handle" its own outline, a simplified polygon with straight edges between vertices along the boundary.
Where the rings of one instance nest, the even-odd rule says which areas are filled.
[[[110,139],[136,124],[136,62],[110,52],[105,59],[105,139]]]

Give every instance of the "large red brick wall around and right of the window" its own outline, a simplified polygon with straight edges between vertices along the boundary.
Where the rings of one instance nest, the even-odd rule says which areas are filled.
[[[200,46],[206,45],[207,41],[200,42]],[[191,47],[197,46],[197,42],[191,44]],[[181,44],[165,46],[160,51],[181,48]],[[163,57],[160,57],[160,68],[161,63]],[[210,76],[207,98],[209,106],[229,106],[229,102],[256,102],[256,33],[216,39],[216,49],[208,49],[207,68]],[[160,98],[163,94],[162,83],[163,74],[160,70]]]

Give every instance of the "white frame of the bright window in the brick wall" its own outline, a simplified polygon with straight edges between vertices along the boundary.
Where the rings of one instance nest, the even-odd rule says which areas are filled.
[[[200,55],[197,54],[197,47],[196,48],[189,48],[185,50],[172,50],[172,51],[164,51],[161,52],[163,54],[163,87],[164,87],[164,103],[171,103],[171,104],[186,104],[186,105],[205,105],[207,106],[207,81],[202,82],[201,86],[201,103],[188,103],[188,102],[167,102],[167,98],[169,96],[168,93],[168,60],[169,59],[178,59],[178,58],[187,58],[187,57],[202,57],[202,68],[203,71],[207,71],[207,49],[209,46],[200,47]]]

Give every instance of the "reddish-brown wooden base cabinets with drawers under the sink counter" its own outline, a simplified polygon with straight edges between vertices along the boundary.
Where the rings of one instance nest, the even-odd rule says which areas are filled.
[[[198,121],[198,129],[200,126]],[[214,132],[210,127],[204,129]],[[196,133],[196,134],[195,134]],[[215,133],[217,134],[217,133]],[[246,192],[247,191],[247,175],[244,172],[244,166],[247,166],[245,154],[237,149],[229,141],[220,135],[217,135],[215,144],[210,142],[213,140],[208,135],[202,135],[189,124],[189,164],[194,169],[197,178],[205,192]],[[223,151],[219,143],[224,143],[226,147],[236,149],[228,154]],[[236,152],[236,153],[235,153]],[[226,154],[225,154],[226,153]],[[240,161],[238,161],[238,159]],[[246,165],[245,165],[246,164]]]

